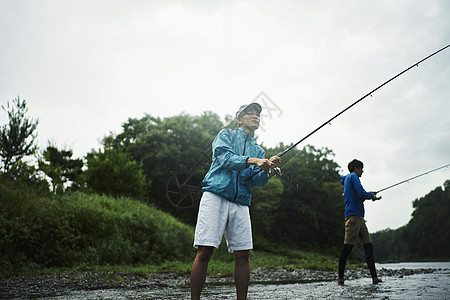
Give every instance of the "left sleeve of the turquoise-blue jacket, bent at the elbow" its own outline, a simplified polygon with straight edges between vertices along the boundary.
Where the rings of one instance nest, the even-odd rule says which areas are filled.
[[[213,156],[219,165],[225,169],[243,170],[247,167],[248,156],[236,154],[232,143],[233,137],[230,131],[226,129],[221,130],[212,144]]]

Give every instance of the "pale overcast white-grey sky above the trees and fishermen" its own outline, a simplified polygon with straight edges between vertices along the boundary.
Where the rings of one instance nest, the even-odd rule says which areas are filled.
[[[128,118],[225,117],[254,100],[258,141],[289,144],[450,44],[449,16],[446,0],[0,0],[0,104],[26,99],[39,145],[77,157]],[[362,160],[363,186],[379,190],[450,163],[449,98],[450,49],[299,146],[332,149],[342,174]],[[366,203],[369,230],[407,224],[446,179],[450,168]]]

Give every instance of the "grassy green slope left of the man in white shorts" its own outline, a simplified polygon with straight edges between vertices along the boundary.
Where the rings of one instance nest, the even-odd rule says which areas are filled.
[[[159,264],[191,257],[192,228],[139,201],[79,192],[41,198],[0,188],[2,272],[33,265]]]

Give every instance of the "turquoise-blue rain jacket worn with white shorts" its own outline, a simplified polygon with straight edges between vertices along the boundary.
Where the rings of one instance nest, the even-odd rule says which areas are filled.
[[[266,152],[244,129],[222,129],[212,143],[211,167],[202,182],[202,191],[209,191],[239,204],[250,206],[252,186],[263,186],[267,172],[257,166],[247,166],[249,157],[264,158]]]

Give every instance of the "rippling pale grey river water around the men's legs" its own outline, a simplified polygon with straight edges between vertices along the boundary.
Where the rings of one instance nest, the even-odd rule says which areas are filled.
[[[369,277],[348,279],[340,286],[335,279],[295,282],[253,282],[248,299],[450,299],[450,262],[377,264],[383,282],[372,284]],[[399,272],[399,270],[401,272]],[[416,272],[419,270],[419,272]],[[422,270],[422,272],[420,272]],[[231,281],[209,282],[202,299],[235,299]],[[144,289],[72,291],[40,299],[189,299],[188,282],[175,286]]]

